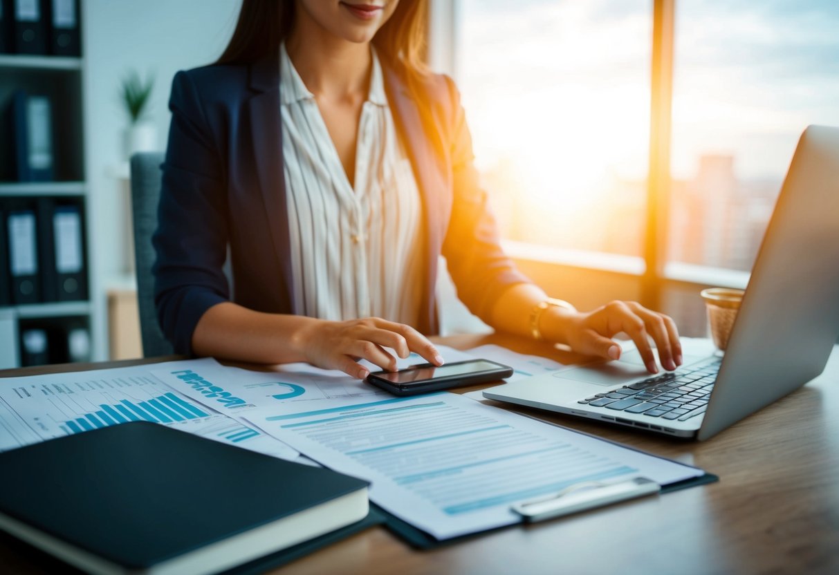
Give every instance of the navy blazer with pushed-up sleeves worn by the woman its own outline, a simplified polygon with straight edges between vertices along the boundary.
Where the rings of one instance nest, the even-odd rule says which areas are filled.
[[[177,353],[191,353],[195,325],[216,303],[293,313],[278,58],[275,50],[250,65],[210,65],[180,71],[173,80],[152,243],[154,301]],[[460,96],[443,75],[429,75],[413,93],[404,75],[384,62],[383,76],[425,221],[425,295],[414,327],[437,331],[440,254],[458,297],[486,321],[503,290],[528,280],[499,246]],[[228,251],[233,286],[223,271]]]

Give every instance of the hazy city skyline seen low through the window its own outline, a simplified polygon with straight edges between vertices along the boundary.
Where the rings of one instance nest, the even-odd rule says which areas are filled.
[[[698,164],[696,174],[690,178],[674,178],[670,182],[668,259],[748,272],[757,256],[781,182],[773,178],[738,179],[734,156],[709,154],[702,156]],[[550,220],[534,219],[532,215],[539,205],[526,196],[508,194],[507,174],[508,170],[504,169],[482,174],[482,184],[491,194],[504,237],[547,245],[576,242],[576,249],[641,255],[646,179],[614,182],[607,197],[615,210],[604,212],[594,205],[576,215],[581,222],[596,215],[607,218],[607,225],[595,233],[587,230],[585,242],[580,243],[580,230],[576,227],[558,230]]]

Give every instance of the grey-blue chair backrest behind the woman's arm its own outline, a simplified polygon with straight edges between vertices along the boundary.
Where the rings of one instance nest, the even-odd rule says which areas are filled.
[[[134,258],[137,272],[137,303],[140,313],[140,333],[143,356],[175,353],[164,337],[154,308],[154,247],[152,234],[157,228],[160,198],[160,152],[135,153],[131,158],[131,206],[134,224]]]

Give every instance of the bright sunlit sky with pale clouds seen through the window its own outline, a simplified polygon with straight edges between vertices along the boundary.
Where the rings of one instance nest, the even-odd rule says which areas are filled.
[[[651,13],[651,0],[462,0],[456,76],[479,167],[512,158],[535,194],[643,178]],[[783,178],[805,126],[839,125],[837,30],[835,1],[677,0],[674,176],[731,154],[740,178]]]

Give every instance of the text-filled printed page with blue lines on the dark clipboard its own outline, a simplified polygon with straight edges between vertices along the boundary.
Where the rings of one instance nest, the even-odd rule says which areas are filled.
[[[704,474],[454,393],[277,403],[244,417],[437,539],[520,521],[510,505],[587,481]]]

